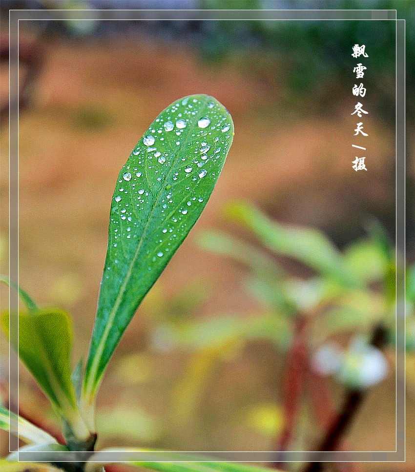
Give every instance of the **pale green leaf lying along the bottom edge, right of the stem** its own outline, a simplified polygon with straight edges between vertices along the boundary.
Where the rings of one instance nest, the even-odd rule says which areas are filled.
[[[120,459],[114,461],[114,453]],[[143,461],[143,459],[146,459]],[[270,472],[270,469],[234,462],[215,462],[213,457],[185,452],[146,451],[145,449],[104,449],[96,452],[86,465],[86,472],[98,471],[100,464],[125,464],[159,472]],[[196,462],[197,461],[197,462]],[[276,469],[274,471],[278,472]]]

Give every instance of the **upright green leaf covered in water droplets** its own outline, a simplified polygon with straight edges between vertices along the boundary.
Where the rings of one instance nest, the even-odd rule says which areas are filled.
[[[193,95],[156,118],[121,169],[85,369],[86,404],[137,307],[202,213],[232,139],[226,108]]]

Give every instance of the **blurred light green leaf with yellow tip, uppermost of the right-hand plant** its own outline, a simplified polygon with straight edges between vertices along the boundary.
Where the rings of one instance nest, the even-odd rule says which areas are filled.
[[[358,278],[349,270],[340,252],[321,231],[280,225],[243,202],[228,205],[225,214],[230,220],[247,226],[277,254],[297,259],[347,287],[359,285]]]

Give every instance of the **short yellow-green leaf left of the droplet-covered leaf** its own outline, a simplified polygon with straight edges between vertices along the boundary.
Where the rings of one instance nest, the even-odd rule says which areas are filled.
[[[2,317],[1,325],[8,336],[8,313]],[[67,313],[61,310],[25,313],[20,310],[19,346],[12,338],[10,343],[73,431],[80,437],[87,437],[89,434],[80,418],[70,379],[72,327]]]

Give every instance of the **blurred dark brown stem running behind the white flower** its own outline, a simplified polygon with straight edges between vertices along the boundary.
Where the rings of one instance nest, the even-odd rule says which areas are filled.
[[[382,349],[387,340],[387,331],[383,325],[376,325],[373,328],[370,345],[377,349]],[[326,431],[320,444],[315,451],[321,451],[321,457],[316,462],[311,462],[304,472],[321,472],[323,470],[323,457],[325,451],[338,451],[338,446],[341,438],[350,427],[353,418],[358,412],[360,405],[366,397],[366,390],[349,389],[346,392],[346,398],[343,407],[335,416],[329,428]]]

